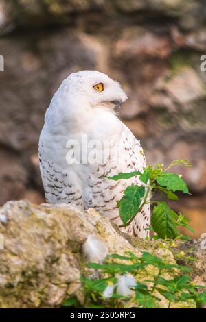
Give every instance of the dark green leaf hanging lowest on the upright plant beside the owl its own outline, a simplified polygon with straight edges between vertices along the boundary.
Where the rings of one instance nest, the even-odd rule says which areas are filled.
[[[174,212],[165,202],[157,203],[152,213],[152,227],[158,236],[164,238],[176,238],[176,212]]]

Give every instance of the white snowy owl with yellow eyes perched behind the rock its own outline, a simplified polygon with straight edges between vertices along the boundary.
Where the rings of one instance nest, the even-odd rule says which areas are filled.
[[[145,238],[149,206],[126,227],[122,227],[117,208],[125,188],[140,184],[138,176],[108,179],[146,166],[139,140],[115,112],[126,99],[119,83],[104,73],[71,73],[45,114],[38,147],[40,170],[48,203],[71,203],[80,210],[95,208],[122,231]]]

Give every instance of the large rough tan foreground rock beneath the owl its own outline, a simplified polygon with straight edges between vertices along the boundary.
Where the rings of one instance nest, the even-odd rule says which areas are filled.
[[[71,206],[10,201],[0,210],[0,233],[4,238],[0,251],[1,308],[60,307],[69,296],[82,303],[80,276],[85,271],[88,274],[82,245],[91,235],[104,243],[108,253],[132,251],[139,256],[150,251],[175,262],[162,242],[123,234],[93,209],[83,213]],[[138,278],[146,278],[144,274]],[[176,276],[175,271],[171,274]],[[162,301],[161,306],[166,303]]]

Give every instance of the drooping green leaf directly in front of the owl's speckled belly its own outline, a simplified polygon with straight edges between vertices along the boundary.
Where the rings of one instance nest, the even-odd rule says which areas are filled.
[[[124,225],[137,214],[144,193],[144,186],[133,185],[124,190],[124,196],[118,203],[119,215]]]

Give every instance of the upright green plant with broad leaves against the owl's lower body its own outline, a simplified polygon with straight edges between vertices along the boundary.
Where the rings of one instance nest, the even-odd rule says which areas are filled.
[[[119,173],[108,179],[130,179],[135,175],[139,176],[139,185],[131,185],[124,190],[124,196],[117,203],[119,207],[119,216],[122,219],[122,226],[129,225],[137,212],[145,204],[154,206],[151,217],[152,230],[157,234],[155,238],[175,239],[179,236],[178,226],[187,227],[191,232],[192,227],[188,225],[188,219],[183,214],[176,213],[165,202],[165,197],[170,200],[179,200],[177,192],[190,194],[187,184],[181,175],[168,172],[175,165],[191,166],[188,160],[174,160],[168,168],[164,169],[163,164],[148,166],[144,171],[133,171],[131,173]],[[154,197],[157,192],[161,193],[161,201],[155,201]],[[183,236],[181,236],[183,238]]]

